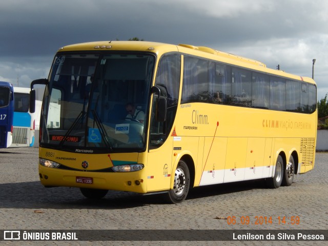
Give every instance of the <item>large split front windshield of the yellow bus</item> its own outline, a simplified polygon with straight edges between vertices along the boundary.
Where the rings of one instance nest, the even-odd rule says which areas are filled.
[[[143,149],[154,63],[155,56],[147,53],[57,55],[45,92],[40,144]]]

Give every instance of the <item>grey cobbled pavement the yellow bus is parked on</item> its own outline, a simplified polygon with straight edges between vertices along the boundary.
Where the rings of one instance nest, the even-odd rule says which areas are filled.
[[[76,188],[44,188],[38,179],[37,148],[0,150],[0,230],[140,229],[328,229],[328,153],[315,169],[297,175],[291,187],[267,189],[262,181],[201,187],[187,200],[167,204],[163,195],[110,191],[90,201]],[[235,216],[235,217],[232,217]],[[261,216],[263,220],[261,220]],[[279,217],[286,217],[283,224]],[[292,218],[292,216],[295,216]],[[272,217],[272,223],[267,221]],[[235,218],[233,220],[221,218]],[[298,223],[299,218],[299,223]],[[250,223],[243,219],[249,219]],[[295,222],[292,224],[292,222]],[[293,220],[293,221],[292,221]],[[245,223],[243,223],[245,222]],[[258,222],[258,224],[256,224]],[[181,242],[24,242],[37,245],[177,245]],[[186,245],[324,245],[324,242],[182,242]],[[277,244],[278,243],[278,244]],[[18,242],[2,241],[4,245]],[[21,244],[21,243],[20,243]]]

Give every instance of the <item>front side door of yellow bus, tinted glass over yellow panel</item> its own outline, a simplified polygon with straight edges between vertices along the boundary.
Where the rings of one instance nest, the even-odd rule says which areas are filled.
[[[166,120],[156,120],[156,100],[153,95],[149,153],[147,161],[147,191],[168,190],[171,182],[173,136],[172,126],[176,115],[181,72],[181,55],[168,54],[161,57],[157,68],[155,86],[160,89],[160,96],[167,98]]]

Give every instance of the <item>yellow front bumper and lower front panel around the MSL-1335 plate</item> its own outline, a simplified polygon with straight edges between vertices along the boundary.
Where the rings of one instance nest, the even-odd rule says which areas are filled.
[[[40,148],[39,157],[58,162],[71,169],[48,168],[39,164],[40,180],[44,186],[107,189],[138,193],[147,192],[147,167],[137,172],[101,172],[105,168],[113,167],[113,163],[141,163],[142,155],[140,156],[138,153],[74,153],[72,155],[70,152]],[[87,169],[82,167],[84,161],[88,162]],[[77,183],[76,177],[92,177],[93,183]],[[129,181],[131,182],[130,185]],[[136,181],[139,181],[140,185],[136,185]]]

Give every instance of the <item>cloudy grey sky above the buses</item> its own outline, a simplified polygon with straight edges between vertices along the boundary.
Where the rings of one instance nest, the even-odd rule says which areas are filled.
[[[132,37],[208,46],[314,78],[328,93],[326,0],[1,0],[0,80],[46,78],[58,48]],[[18,81],[18,84],[17,84]]]

